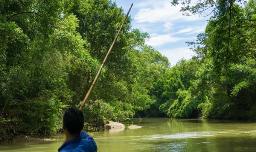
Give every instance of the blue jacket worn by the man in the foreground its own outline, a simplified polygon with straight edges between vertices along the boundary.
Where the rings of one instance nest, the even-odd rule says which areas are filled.
[[[85,132],[82,132],[81,136],[67,141],[58,149],[59,152],[97,152],[97,150],[93,138]]]

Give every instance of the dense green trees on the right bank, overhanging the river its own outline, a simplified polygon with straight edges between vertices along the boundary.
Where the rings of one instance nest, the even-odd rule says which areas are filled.
[[[238,1],[241,2],[241,1]],[[187,42],[197,55],[154,82],[160,112],[173,118],[256,119],[256,1],[183,1],[181,11],[212,9],[205,33]],[[172,1],[178,4],[178,0]]]

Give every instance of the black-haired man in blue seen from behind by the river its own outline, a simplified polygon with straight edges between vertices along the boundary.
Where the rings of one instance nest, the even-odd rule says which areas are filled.
[[[58,149],[59,152],[97,152],[93,138],[82,131],[84,115],[76,108],[69,108],[63,116],[63,130],[66,140]]]

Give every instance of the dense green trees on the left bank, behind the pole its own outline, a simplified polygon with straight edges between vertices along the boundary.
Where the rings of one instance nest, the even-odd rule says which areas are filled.
[[[79,107],[125,18],[110,0],[0,1],[0,140],[50,134]],[[145,45],[129,17],[83,109],[87,126],[148,108],[168,59]]]

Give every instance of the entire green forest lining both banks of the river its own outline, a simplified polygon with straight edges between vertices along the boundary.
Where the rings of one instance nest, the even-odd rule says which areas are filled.
[[[214,9],[187,42],[196,55],[172,67],[129,17],[82,110],[87,129],[134,116],[255,120],[256,0],[239,2],[184,4],[185,15]],[[0,139],[61,131],[124,18],[110,0],[0,1]]]

